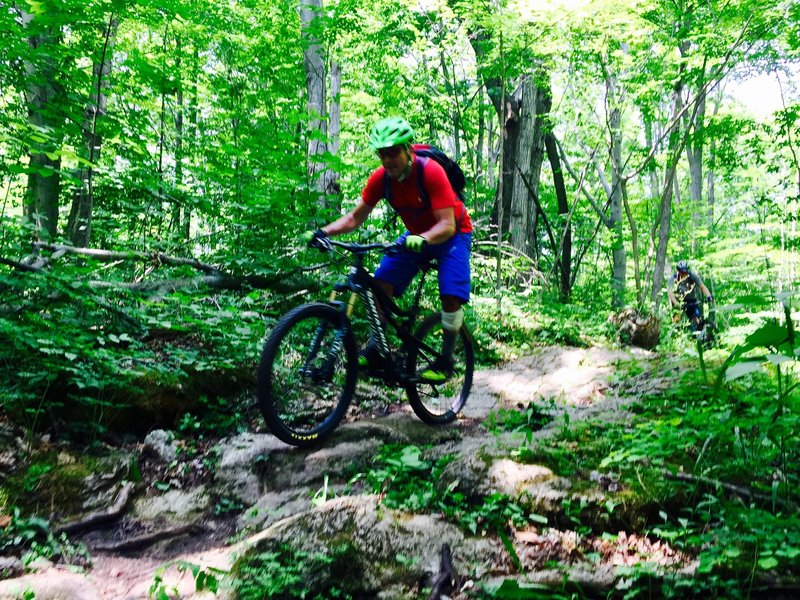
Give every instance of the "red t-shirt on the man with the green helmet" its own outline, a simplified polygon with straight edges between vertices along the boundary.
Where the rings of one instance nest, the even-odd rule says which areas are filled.
[[[424,201],[417,187],[417,169],[420,168],[420,160],[414,157],[411,165],[411,172],[403,181],[391,180],[392,204],[394,210],[400,215],[406,228],[414,234],[425,233],[436,222],[433,211],[442,208],[453,207],[456,219],[456,231],[459,233],[472,232],[472,220],[464,207],[464,203],[458,199],[447,179],[442,165],[433,159],[427,159],[427,164],[422,172],[422,179],[425,184],[425,191],[430,198],[430,207],[424,209]],[[364,204],[375,206],[384,197],[386,192],[386,171],[378,167],[372,172],[361,192],[361,199]]]

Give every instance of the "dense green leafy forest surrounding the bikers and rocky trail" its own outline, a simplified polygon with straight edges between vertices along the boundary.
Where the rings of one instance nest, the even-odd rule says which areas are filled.
[[[0,560],[0,597],[40,597],[2,595],[38,559],[91,571],[92,543],[104,546],[68,524],[98,486],[152,497],[216,482],[213,519],[238,540],[258,530],[242,525],[258,498],[220,483],[220,448],[269,435],[255,400],[264,341],[350,267],[302,234],[359,202],[380,165],[369,131],[387,116],[466,175],[467,407],[495,404],[375,441],[304,482],[305,509],[375,497],[435,515],[453,539],[493,540],[503,558],[485,570],[454,548],[453,598],[797,597],[799,82],[793,0],[3,3],[0,558],[15,562]],[[402,231],[381,203],[346,239]],[[670,306],[682,260],[713,297],[713,339]],[[358,308],[354,323],[363,335]],[[585,362],[559,370],[574,352]],[[593,360],[597,410],[581,412],[573,377]],[[565,387],[513,399],[508,373]],[[347,426],[377,405],[372,417],[414,418],[402,390],[382,387],[359,387],[368,401]],[[178,451],[154,473],[142,444],[156,430]],[[475,454],[541,466],[572,491],[553,506],[466,491],[447,474],[467,446],[447,431],[494,440]],[[315,460],[264,443],[250,465],[262,477],[280,471],[271,461],[309,472]],[[101,485],[91,476],[110,455],[124,468]],[[581,543],[534,560],[544,542],[530,536],[548,531]],[[621,539],[648,550],[612,569],[598,548]],[[230,569],[180,570],[198,593],[237,598],[445,597],[413,583],[411,559],[392,555],[402,569],[380,595],[385,582],[342,574],[352,557],[339,546],[275,540]],[[671,562],[650,562],[654,545]],[[581,565],[610,575],[582,579]],[[545,567],[557,576],[537,579]],[[159,573],[143,597],[188,597]]]

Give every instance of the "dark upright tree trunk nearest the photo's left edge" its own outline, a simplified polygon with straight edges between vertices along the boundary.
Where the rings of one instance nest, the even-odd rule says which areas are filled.
[[[31,14],[21,12],[22,24],[28,31],[30,56],[24,59],[28,102],[28,121],[34,130],[53,136],[28,150],[28,187],[25,193],[24,216],[32,223],[39,238],[54,238],[58,228],[58,196],[61,192],[61,156],[52,154],[61,147],[62,120],[55,116],[63,101],[57,82],[57,67],[50,53],[61,42],[61,31],[39,27]],[[50,152],[50,158],[47,153]]]

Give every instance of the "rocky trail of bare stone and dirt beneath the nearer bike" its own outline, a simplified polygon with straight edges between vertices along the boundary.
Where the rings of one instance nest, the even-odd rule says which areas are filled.
[[[616,368],[629,361],[637,362],[641,375],[626,380],[622,390]],[[557,585],[564,573],[553,569],[552,561],[569,564],[570,579],[588,590],[613,585],[615,570],[642,556],[665,567],[690,569],[689,561],[666,544],[624,532],[609,541],[579,537],[563,527],[530,526],[512,532],[510,554],[503,540],[470,535],[440,515],[386,508],[380,496],[353,477],[367,470],[383,444],[397,442],[424,445],[430,448],[429,458],[455,456],[437,483],[440,489],[457,488],[467,497],[524,496],[532,510],[548,515],[576,495],[601,503],[614,492],[613,477],[592,474],[588,481],[570,481],[546,466],[517,462],[513,450],[546,443],[565,415],[573,423],[624,419],[636,393],[670,385],[651,368],[652,361],[641,350],[541,348],[477,372],[463,415],[452,426],[430,428],[400,405],[380,415],[356,411],[355,420],[310,450],[286,446],[268,433],[246,432],[193,448],[192,460],[182,463],[183,476],[172,481],[162,478],[174,475],[186,448],[170,432],[151,432],[144,444],[103,462],[105,471],[86,483],[94,500],[85,503],[75,535],[90,549],[91,564],[84,569],[37,565],[33,573],[0,581],[0,598],[134,600],[158,597],[159,591],[169,598],[232,598],[224,573],[238,557],[278,545],[311,555],[343,536],[347,561],[363,590],[357,597],[365,598],[419,597],[447,562],[445,544],[452,552],[451,598],[465,598],[478,584],[503,580]],[[553,415],[550,425],[531,439],[486,427],[492,411],[531,402]],[[203,460],[206,455],[214,456],[213,467]],[[142,481],[123,488],[120,481],[132,459]],[[109,515],[115,502],[119,512]],[[97,515],[105,515],[107,522],[91,521]],[[599,562],[582,563],[578,557],[587,552],[599,556]],[[196,591],[196,573],[187,565],[217,577],[217,593]],[[313,580],[325,574],[303,576]],[[321,589],[326,585],[317,584]]]

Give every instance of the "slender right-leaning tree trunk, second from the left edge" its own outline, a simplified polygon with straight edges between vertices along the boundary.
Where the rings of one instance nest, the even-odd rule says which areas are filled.
[[[82,156],[89,163],[78,170],[78,185],[72,197],[72,207],[67,221],[67,235],[75,246],[88,246],[92,235],[92,211],[94,209],[94,164],[100,158],[102,138],[97,133],[97,124],[106,114],[109,75],[113,57],[117,19],[111,16],[103,31],[103,48],[92,69],[94,75],[94,98],[86,106],[83,121],[84,146]],[[180,163],[179,163],[180,164]]]

